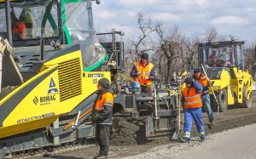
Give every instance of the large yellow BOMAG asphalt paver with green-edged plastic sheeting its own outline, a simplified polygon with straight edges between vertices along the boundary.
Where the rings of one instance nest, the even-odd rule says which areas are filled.
[[[124,51],[114,37],[122,33],[111,33],[108,53],[96,43],[92,3],[0,0],[0,158],[94,138],[90,114],[102,77],[112,81],[115,118],[143,116],[148,138],[176,130],[177,93],[154,88],[152,97],[120,87]]]

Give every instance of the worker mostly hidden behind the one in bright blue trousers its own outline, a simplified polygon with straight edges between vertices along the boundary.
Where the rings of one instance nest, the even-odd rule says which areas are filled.
[[[212,112],[212,107],[211,107],[211,99],[210,99],[209,88],[208,88],[210,83],[207,80],[207,77],[199,69],[195,69],[194,75],[192,77],[196,82],[199,82],[201,84],[201,87],[202,87],[202,91],[201,91],[202,104],[203,104],[203,107],[204,107],[205,111],[207,111],[209,122],[213,126],[214,125],[214,118],[213,118],[213,112]]]

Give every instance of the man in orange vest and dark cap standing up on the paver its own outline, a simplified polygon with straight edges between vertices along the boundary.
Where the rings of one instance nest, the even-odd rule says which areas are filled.
[[[142,92],[152,94],[152,81],[155,77],[154,65],[148,61],[148,54],[143,53],[141,60],[135,62],[131,69],[130,76],[141,84]]]

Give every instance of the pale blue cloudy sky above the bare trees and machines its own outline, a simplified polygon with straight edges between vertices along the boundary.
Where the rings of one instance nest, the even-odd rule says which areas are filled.
[[[256,0],[102,0],[94,5],[96,31],[116,28],[137,37],[137,12],[170,29],[202,36],[215,27],[219,35],[256,41]]]

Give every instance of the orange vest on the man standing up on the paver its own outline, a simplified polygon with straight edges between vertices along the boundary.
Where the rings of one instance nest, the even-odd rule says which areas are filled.
[[[141,61],[139,61],[139,62],[135,62],[134,63],[134,67],[137,69],[137,72],[142,72],[142,74],[139,75],[136,78],[136,80],[138,82],[140,82],[141,84],[143,84],[143,85],[151,86],[152,85],[152,81],[149,80],[149,79],[144,79],[144,78],[150,76],[150,72],[154,68],[154,65],[152,63],[148,62],[148,65],[143,67],[143,65],[141,64]]]

